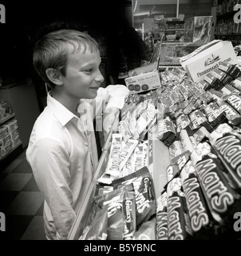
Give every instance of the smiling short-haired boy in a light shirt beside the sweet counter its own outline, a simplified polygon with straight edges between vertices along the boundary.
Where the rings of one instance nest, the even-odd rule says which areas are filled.
[[[44,194],[47,239],[67,239],[97,169],[93,116],[105,110],[108,134],[128,95],[122,85],[99,88],[100,64],[97,42],[77,30],[46,34],[34,48],[34,68],[51,91],[26,158]]]

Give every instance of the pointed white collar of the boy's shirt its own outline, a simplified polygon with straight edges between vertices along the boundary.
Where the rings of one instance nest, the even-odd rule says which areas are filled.
[[[60,102],[51,96],[51,91],[47,94],[47,106],[51,109],[55,117],[62,126],[65,126],[72,118],[77,118],[75,114],[65,108]]]

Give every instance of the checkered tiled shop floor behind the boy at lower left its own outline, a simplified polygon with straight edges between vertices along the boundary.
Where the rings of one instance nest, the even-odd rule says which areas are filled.
[[[0,172],[0,212],[6,216],[0,240],[45,240],[42,210],[43,197],[24,150]]]

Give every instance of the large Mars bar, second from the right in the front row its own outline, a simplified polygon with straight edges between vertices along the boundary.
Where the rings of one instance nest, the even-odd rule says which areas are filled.
[[[239,203],[240,196],[231,187],[225,175],[227,170],[209,143],[203,142],[196,146],[191,158],[211,215],[223,225],[223,222],[233,217],[232,209]]]

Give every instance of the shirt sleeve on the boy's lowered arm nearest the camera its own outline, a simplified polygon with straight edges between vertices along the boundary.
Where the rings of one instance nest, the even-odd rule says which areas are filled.
[[[69,187],[69,160],[64,145],[52,138],[41,138],[27,151],[39,190],[44,194],[60,239],[67,239],[76,214]]]

